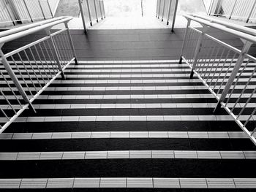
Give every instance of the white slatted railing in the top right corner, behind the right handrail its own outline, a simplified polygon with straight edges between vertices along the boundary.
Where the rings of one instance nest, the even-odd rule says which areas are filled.
[[[211,0],[211,8],[208,15],[224,16],[228,19],[235,18],[249,21],[256,21],[255,0]]]

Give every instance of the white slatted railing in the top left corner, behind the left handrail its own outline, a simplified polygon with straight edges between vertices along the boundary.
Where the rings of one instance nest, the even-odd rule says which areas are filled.
[[[2,27],[53,18],[48,0],[2,0],[0,9]]]

